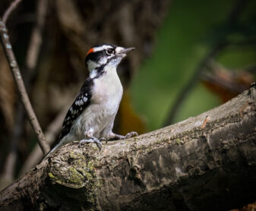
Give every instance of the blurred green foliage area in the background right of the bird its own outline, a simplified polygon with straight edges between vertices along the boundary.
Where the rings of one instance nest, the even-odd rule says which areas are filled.
[[[182,87],[194,74],[198,63],[218,39],[243,42],[255,39],[256,1],[243,9],[239,24],[226,28],[235,1],[173,1],[163,26],[157,32],[152,56],[143,62],[131,83],[134,108],[142,114],[149,131],[161,128]],[[233,71],[254,65],[255,43],[231,46],[216,57]],[[175,122],[199,115],[216,105],[220,98],[202,83],[196,85],[185,98]]]

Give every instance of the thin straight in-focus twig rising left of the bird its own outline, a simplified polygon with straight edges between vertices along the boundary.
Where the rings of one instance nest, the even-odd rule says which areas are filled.
[[[21,77],[20,68],[17,65],[16,58],[14,56],[14,52],[11,48],[11,43],[9,41],[9,36],[5,24],[0,19],[0,36],[2,39],[2,45],[5,49],[5,54],[8,58],[8,63],[11,68],[11,72],[14,76],[14,81],[17,85],[17,89],[21,96],[21,102],[24,105],[24,108],[27,112],[27,117],[29,118],[30,124],[32,125],[33,131],[36,133],[36,137],[39,141],[40,147],[43,150],[43,153],[47,153],[49,151],[49,145],[46,143],[46,138],[43,135],[43,131],[40,127],[40,124],[36,118],[35,113],[33,112],[32,105],[30,103],[30,99],[27,96],[27,91],[24,86],[24,81]]]

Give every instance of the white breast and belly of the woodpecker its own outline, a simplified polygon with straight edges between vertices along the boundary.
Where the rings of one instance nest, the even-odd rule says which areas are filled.
[[[114,69],[96,79],[90,105],[77,118],[71,129],[73,138],[86,139],[84,133],[89,130],[93,131],[93,137],[100,138],[100,133],[115,119],[122,99],[122,91],[122,84]],[[112,126],[110,129],[112,130]]]

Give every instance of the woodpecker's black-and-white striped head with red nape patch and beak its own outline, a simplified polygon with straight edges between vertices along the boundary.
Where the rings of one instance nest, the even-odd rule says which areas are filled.
[[[109,68],[117,68],[122,58],[134,48],[123,48],[113,44],[94,46],[87,52],[85,65],[90,73]]]

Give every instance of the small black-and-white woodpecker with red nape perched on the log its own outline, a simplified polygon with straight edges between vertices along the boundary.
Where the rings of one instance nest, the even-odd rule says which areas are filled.
[[[101,150],[103,140],[121,140],[137,136],[135,131],[125,136],[112,131],[123,94],[117,67],[122,58],[133,49],[110,43],[89,49],[85,57],[89,77],[68,109],[56,145],[45,158],[73,140],[80,140],[80,147],[84,143],[96,143]]]

